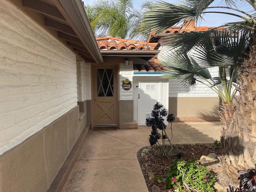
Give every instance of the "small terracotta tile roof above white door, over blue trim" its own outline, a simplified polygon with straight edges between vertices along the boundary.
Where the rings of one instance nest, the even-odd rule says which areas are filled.
[[[145,64],[134,64],[133,72],[163,72],[167,71],[166,66],[159,63],[156,57],[148,60],[148,63]]]

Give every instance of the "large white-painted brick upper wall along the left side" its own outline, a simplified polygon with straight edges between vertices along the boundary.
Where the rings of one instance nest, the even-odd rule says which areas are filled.
[[[0,154],[77,105],[76,57],[8,1],[0,6]]]

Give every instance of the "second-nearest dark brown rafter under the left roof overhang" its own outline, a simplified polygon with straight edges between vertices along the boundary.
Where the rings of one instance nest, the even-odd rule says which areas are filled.
[[[60,22],[51,20],[49,18],[45,18],[44,19],[44,24],[45,24],[45,26],[48,26],[48,27],[50,27],[52,29],[55,29],[55,30],[58,30],[60,32],[63,32],[63,33],[66,33],[66,34],[69,34],[69,35],[77,37],[77,35],[74,32],[74,30],[72,29],[72,27],[67,26],[65,24],[62,24]]]

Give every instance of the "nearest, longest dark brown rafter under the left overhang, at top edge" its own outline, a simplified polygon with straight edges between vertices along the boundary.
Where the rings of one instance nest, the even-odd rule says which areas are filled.
[[[58,8],[48,3],[39,0],[22,0],[22,6],[30,8],[36,12],[40,12],[42,14],[66,21]]]

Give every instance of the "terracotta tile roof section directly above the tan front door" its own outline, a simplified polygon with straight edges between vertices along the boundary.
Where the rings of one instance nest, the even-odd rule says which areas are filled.
[[[142,42],[112,36],[96,38],[100,50],[158,50],[158,42]]]

